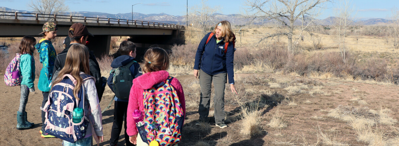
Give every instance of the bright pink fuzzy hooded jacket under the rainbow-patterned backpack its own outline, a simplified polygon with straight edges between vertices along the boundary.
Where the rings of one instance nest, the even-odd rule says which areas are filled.
[[[168,78],[169,73],[166,71],[150,72],[140,75],[139,77],[133,79],[133,86],[130,89],[129,104],[127,106],[127,135],[133,136],[137,135],[137,127],[134,122],[132,113],[134,110],[140,110],[144,112],[144,102],[143,102],[143,92],[144,90],[152,88],[154,85],[161,82],[165,82]],[[170,85],[172,85],[179,97],[181,108],[185,115],[186,107],[184,100],[184,91],[181,84],[177,78],[173,78]],[[184,124],[184,121],[183,121]]]

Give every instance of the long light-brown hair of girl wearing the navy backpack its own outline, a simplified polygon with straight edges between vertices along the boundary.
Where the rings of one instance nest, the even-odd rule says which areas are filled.
[[[89,70],[89,49],[85,45],[73,44],[69,48],[67,53],[67,58],[65,59],[65,65],[59,72],[57,78],[55,79],[53,85],[62,81],[65,74],[71,74],[76,79],[76,86],[73,89],[73,94],[75,98],[80,91],[80,87],[83,83],[83,78],[80,77],[80,72],[90,74]]]

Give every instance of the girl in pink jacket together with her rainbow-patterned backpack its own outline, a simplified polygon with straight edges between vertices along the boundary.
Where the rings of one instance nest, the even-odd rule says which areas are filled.
[[[150,48],[141,68],[144,74],[133,79],[127,106],[129,141],[137,146],[177,146],[185,101],[179,80],[166,71],[169,56],[162,48]]]

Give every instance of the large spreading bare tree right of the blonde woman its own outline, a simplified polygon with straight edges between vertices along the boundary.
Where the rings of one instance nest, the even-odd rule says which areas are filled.
[[[285,28],[285,31],[267,35],[262,37],[260,41],[269,37],[286,36],[288,38],[287,49],[291,53],[294,53],[295,42],[299,40],[302,32],[319,14],[319,8],[323,7],[323,4],[329,1],[331,0],[247,0],[245,5],[249,7],[246,9],[246,12],[250,17],[274,20],[281,23],[281,27]],[[295,39],[293,32],[294,24],[297,21],[300,21],[297,24],[301,25],[301,30]]]

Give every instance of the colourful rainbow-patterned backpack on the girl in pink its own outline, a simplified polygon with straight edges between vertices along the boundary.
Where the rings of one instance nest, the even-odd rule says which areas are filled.
[[[177,92],[170,85],[173,77],[143,92],[144,134],[143,141],[157,141],[160,146],[174,146],[181,141],[184,113]]]

